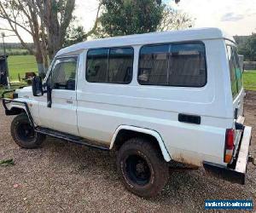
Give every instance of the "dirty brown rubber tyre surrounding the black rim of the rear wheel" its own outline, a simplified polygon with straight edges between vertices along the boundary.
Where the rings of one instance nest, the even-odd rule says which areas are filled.
[[[147,183],[139,184],[137,180],[141,178],[137,177],[135,177],[136,180],[132,180],[132,171],[126,170],[126,160],[129,157],[132,158],[131,156],[139,156],[146,162],[145,164],[148,165],[148,173],[150,173],[150,176]],[[166,161],[162,157],[160,148],[154,146],[154,141],[148,141],[144,138],[131,138],[129,141],[126,141],[119,149],[117,165],[119,176],[125,184],[125,187],[131,191],[131,193],[135,193],[144,198],[155,197],[160,193],[169,177],[168,164],[166,164]]]

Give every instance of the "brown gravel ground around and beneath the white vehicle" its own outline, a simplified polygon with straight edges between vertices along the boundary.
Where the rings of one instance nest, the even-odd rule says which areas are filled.
[[[251,149],[256,156],[256,92],[247,93],[247,125],[254,126]],[[20,149],[10,136],[11,117],[0,107],[1,212],[195,212],[205,199],[253,199],[256,170],[250,164],[241,186],[204,170],[175,170],[157,198],[141,199],[127,192],[116,172],[115,156],[48,138],[37,150]]]

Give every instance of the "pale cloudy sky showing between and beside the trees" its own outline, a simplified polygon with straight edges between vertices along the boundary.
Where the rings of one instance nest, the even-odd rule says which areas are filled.
[[[250,35],[256,32],[256,0],[164,0],[174,9],[181,10],[195,19],[195,27],[219,27],[228,34]],[[78,25],[90,30],[96,18],[98,0],[76,0],[74,11]],[[0,26],[7,26],[0,20]],[[22,32],[26,42],[32,38]],[[7,42],[19,42],[16,37],[6,38]]]

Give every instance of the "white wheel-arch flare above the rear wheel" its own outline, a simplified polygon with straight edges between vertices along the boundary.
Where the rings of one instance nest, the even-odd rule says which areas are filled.
[[[165,146],[165,143],[162,140],[160,134],[155,130],[144,129],[144,128],[140,128],[140,127],[136,127],[136,126],[120,125],[118,127],[118,129],[116,129],[114,134],[113,134],[113,138],[111,140],[109,149],[113,148],[114,142],[115,142],[116,137],[119,134],[120,130],[131,130],[131,131],[135,131],[135,132],[139,132],[139,133],[154,136],[156,141],[158,141],[158,143],[159,143],[161,153],[162,153],[163,157],[165,158],[166,162],[171,161],[172,158],[170,157],[170,154],[168,153],[168,151],[166,149],[166,146]]]

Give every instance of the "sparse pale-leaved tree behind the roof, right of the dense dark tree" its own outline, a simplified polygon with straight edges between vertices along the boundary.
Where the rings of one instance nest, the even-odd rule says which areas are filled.
[[[157,30],[183,30],[192,26],[194,26],[194,20],[189,16],[189,14],[166,6],[163,11],[163,18]]]

